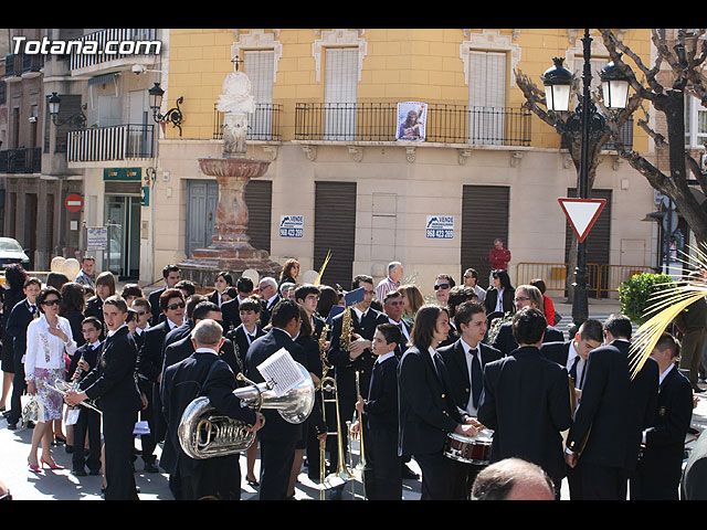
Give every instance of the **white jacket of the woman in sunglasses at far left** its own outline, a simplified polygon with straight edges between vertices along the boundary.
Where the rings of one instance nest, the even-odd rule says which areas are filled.
[[[24,379],[34,381],[35,369],[59,370],[65,368],[64,351],[72,356],[76,351],[76,342],[71,332],[71,324],[64,317],[59,319],[60,329],[68,337],[64,342],[60,337],[49,332],[46,316],[42,315],[30,322],[27,328],[27,354],[24,357]]]

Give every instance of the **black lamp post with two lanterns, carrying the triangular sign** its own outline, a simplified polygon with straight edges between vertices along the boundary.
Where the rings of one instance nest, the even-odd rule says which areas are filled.
[[[597,110],[591,100],[591,42],[589,29],[584,30],[582,70],[582,95],[577,109],[568,116],[566,121],[558,120],[556,129],[559,134],[569,134],[581,137],[580,166],[578,176],[578,198],[589,197],[589,138],[597,137],[606,130],[606,120]],[[561,59],[553,59],[555,66],[542,74],[541,80],[546,89],[547,107],[551,112],[569,112],[569,92],[572,84],[572,74],[562,66]],[[569,75],[568,75],[569,74]],[[629,81],[614,63],[608,64],[601,72],[604,102],[608,108],[625,108],[629,97]],[[589,318],[589,305],[587,300],[589,274],[587,271],[585,241],[577,242],[577,268],[574,269],[574,298],[572,300],[572,321],[579,328]]]

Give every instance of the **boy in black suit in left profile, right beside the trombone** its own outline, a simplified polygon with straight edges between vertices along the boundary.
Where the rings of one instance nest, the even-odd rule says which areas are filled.
[[[366,497],[370,500],[402,499],[402,457],[398,456],[398,357],[400,328],[381,324],[376,328],[371,351],[377,357],[368,399],[356,403],[362,422],[368,469],[363,471]],[[361,391],[363,395],[363,391]]]

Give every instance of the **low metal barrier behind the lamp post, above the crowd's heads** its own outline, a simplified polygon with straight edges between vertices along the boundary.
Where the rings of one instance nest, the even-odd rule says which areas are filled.
[[[531,279],[541,278],[547,290],[567,290],[567,276],[574,274],[568,263],[532,263],[521,262],[516,265],[516,285],[529,284]],[[619,286],[636,274],[655,273],[654,267],[645,265],[609,265],[588,263],[588,294],[601,298],[609,293],[618,293]]]

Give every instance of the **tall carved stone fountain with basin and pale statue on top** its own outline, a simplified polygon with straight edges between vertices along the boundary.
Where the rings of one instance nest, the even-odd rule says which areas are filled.
[[[215,215],[215,234],[205,248],[192,252],[191,257],[178,264],[183,279],[203,286],[213,285],[215,274],[228,271],[239,277],[243,271],[255,269],[260,276],[272,276],[281,265],[270,258],[266,251],[254,248],[247,235],[247,206],[245,186],[251,179],[266,173],[270,161],[245,158],[247,146],[247,115],[255,105],[251,95],[251,82],[238,63],[223,81],[223,94],[218,107],[224,113],[223,156],[200,158],[199,168],[219,182],[219,205]]]

